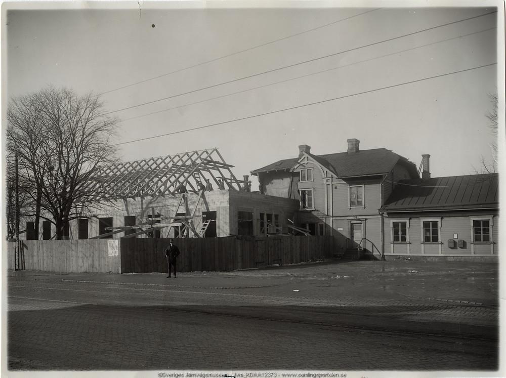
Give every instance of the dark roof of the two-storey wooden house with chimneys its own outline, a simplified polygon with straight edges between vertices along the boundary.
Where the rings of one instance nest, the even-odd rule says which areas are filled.
[[[339,152],[326,155],[308,153],[308,155],[339,178],[386,174],[392,170],[397,162],[405,163],[412,175],[418,176],[414,163],[386,148],[363,150],[355,153]],[[297,164],[298,160],[298,157],[279,160],[251,171],[251,174],[258,175],[260,172],[290,170]]]

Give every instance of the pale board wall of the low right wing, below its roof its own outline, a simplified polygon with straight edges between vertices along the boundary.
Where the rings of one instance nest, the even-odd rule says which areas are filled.
[[[472,236],[471,220],[473,218],[492,218],[492,243],[474,243]],[[423,243],[422,224],[424,219],[440,219],[440,241],[438,243]],[[392,242],[392,221],[408,222],[408,243]],[[444,214],[427,215],[420,217],[393,216],[385,217],[385,255],[418,255],[418,256],[461,256],[461,257],[496,257],[498,248],[498,223],[497,214],[490,213],[468,213],[468,214]],[[454,234],[457,237],[454,238]],[[455,241],[455,246],[450,248],[448,240]],[[458,240],[463,240],[463,246],[458,246]]]

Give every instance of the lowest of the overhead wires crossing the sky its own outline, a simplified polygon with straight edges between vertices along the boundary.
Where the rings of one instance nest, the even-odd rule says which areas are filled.
[[[255,114],[255,115],[250,115],[250,116],[247,116],[247,117],[230,119],[230,120],[228,120],[228,121],[223,121],[223,122],[217,122],[217,123],[207,124],[207,125],[205,125],[205,126],[199,126],[199,127],[192,128],[192,129],[185,129],[185,130],[180,130],[180,131],[174,131],[174,132],[172,132],[172,133],[166,133],[166,134],[155,135],[155,136],[153,136],[153,137],[147,137],[147,138],[135,139],[135,140],[132,140],[132,141],[129,141],[129,142],[116,143],[116,144],[114,144],[113,146],[119,146],[119,145],[121,145],[121,144],[128,144],[128,143],[134,143],[134,142],[144,141],[144,140],[148,140],[148,139],[154,139],[154,138],[159,138],[159,137],[165,137],[165,136],[167,136],[167,135],[174,135],[174,134],[186,133],[186,132],[188,132],[188,131],[193,131],[193,130],[199,130],[199,129],[210,128],[210,127],[213,127],[213,126],[218,126],[218,125],[221,125],[221,124],[226,124],[226,123],[231,123],[231,122],[236,122],[236,121],[242,121],[242,120],[251,119],[251,118],[256,118],[256,117],[261,117],[261,116],[263,116],[263,115],[275,114],[275,113],[280,113],[280,112],[287,111],[287,110],[293,110],[293,109],[303,108],[303,107],[306,107],[306,106],[317,105],[317,104],[323,104],[323,103],[325,103],[325,102],[329,102],[329,101],[341,100],[341,99],[348,98],[348,97],[353,97],[353,96],[358,96],[358,95],[364,95],[364,94],[367,94],[367,93],[372,93],[372,92],[382,91],[382,90],[385,90],[385,89],[390,89],[390,88],[395,88],[395,87],[405,86],[405,85],[412,84],[412,83],[419,82],[419,81],[424,81],[424,80],[434,79],[434,78],[438,78],[438,77],[443,77],[443,76],[453,75],[453,74],[455,74],[455,73],[461,73],[461,72],[471,71],[471,70],[474,70],[474,69],[479,69],[479,68],[489,67],[489,66],[493,66],[493,65],[495,65],[495,64],[497,64],[497,62],[495,62],[495,63],[490,63],[490,64],[485,64],[485,65],[483,65],[483,66],[478,66],[478,67],[467,68],[467,69],[463,69],[463,70],[459,70],[459,71],[453,71],[453,72],[443,73],[443,74],[441,74],[441,75],[430,76],[430,77],[425,77],[425,78],[421,78],[421,79],[417,79],[417,80],[406,81],[406,82],[402,82],[402,83],[399,83],[399,84],[394,84],[394,85],[392,85],[392,86],[388,86],[388,87],[376,88],[376,89],[371,89],[371,90],[369,90],[369,91],[364,91],[364,92],[353,93],[353,94],[351,94],[351,95],[346,95],[346,96],[341,96],[341,97],[334,97],[334,98],[331,98],[331,99],[321,100],[321,101],[312,102],[312,103],[309,103],[309,104],[304,104],[304,105],[292,106],[292,107],[290,107],[290,108],[285,108],[285,109],[274,110],[274,111],[270,111],[270,112],[267,112],[267,113]]]

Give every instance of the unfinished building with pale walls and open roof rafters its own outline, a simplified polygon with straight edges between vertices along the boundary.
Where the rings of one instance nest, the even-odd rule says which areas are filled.
[[[65,238],[261,236],[297,229],[291,221],[298,200],[251,192],[248,176],[238,180],[232,167],[217,148],[108,166],[95,175],[93,203],[69,222]],[[25,235],[55,235],[49,221],[39,231]]]

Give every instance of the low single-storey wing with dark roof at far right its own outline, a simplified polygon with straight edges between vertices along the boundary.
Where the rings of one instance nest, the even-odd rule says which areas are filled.
[[[497,174],[400,180],[381,207],[385,254],[494,257]]]

